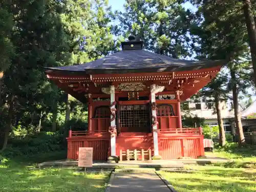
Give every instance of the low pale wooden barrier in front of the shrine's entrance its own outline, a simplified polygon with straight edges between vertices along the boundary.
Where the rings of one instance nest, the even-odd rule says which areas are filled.
[[[149,150],[134,150],[134,151],[130,151],[130,150],[126,150],[126,151],[122,151],[120,150],[120,162],[123,161],[123,157],[126,157],[127,161],[130,161],[130,159],[134,159],[135,161],[137,161],[139,159],[139,156],[141,156],[141,160],[144,161],[145,160],[145,156],[148,157],[147,160],[152,160],[152,152],[151,149]]]

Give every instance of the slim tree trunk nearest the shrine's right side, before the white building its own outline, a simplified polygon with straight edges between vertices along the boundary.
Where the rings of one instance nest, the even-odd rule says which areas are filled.
[[[224,125],[223,125],[223,120],[221,117],[220,98],[218,94],[215,95],[215,108],[216,108],[219,132],[220,132],[219,145],[224,146],[226,143],[226,135],[225,135]]]

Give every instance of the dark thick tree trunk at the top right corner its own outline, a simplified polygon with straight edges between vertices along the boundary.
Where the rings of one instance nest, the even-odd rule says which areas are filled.
[[[244,11],[248,37],[249,37],[251,60],[252,60],[252,66],[254,71],[254,75],[253,75],[254,86],[256,86],[256,28],[255,28],[253,13],[251,10],[251,1],[243,0],[243,3],[244,3],[243,11]]]

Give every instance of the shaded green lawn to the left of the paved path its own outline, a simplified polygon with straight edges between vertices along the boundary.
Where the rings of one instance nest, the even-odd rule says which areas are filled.
[[[33,169],[22,163],[0,164],[0,191],[100,192],[109,176],[104,173],[75,173],[65,168]]]

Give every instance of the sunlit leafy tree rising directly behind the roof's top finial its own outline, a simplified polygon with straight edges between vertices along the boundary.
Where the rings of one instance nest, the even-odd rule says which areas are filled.
[[[175,58],[190,55],[188,29],[193,16],[179,1],[126,1],[125,12],[117,12],[119,34],[139,35],[144,48]]]

